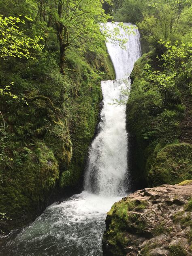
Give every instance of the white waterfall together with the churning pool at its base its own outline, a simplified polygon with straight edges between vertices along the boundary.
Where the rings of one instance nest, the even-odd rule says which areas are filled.
[[[128,24],[126,24],[128,25]],[[109,29],[115,26],[108,23]],[[122,38],[126,33],[120,29]],[[126,49],[107,43],[116,80],[102,81],[103,109],[99,132],[92,142],[85,172],[85,190],[60,204],[53,204],[31,226],[12,234],[0,255],[6,256],[99,256],[105,217],[113,203],[126,194],[127,133],[122,89],[134,62],[140,57],[139,32],[128,36]],[[127,181],[128,179],[126,179]]]

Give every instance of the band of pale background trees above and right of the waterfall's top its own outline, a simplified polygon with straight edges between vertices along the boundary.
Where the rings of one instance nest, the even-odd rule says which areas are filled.
[[[185,38],[190,41],[191,13],[190,0],[124,0],[122,7],[115,10],[115,18],[137,23],[142,42],[158,47],[160,40],[181,42]]]

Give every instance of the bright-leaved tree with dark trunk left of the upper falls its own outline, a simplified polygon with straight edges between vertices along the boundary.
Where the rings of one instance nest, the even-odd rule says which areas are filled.
[[[66,50],[71,46],[93,50],[101,39],[99,24],[106,23],[109,15],[102,9],[103,0],[41,0],[36,21],[46,21],[56,32],[60,45],[60,72],[64,74]],[[110,0],[107,1],[110,3]],[[102,38],[103,40],[103,38]]]

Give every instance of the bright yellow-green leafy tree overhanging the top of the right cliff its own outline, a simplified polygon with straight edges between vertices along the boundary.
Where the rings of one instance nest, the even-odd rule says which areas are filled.
[[[153,70],[149,64],[145,65],[142,73],[141,85],[148,90],[160,92],[164,105],[180,100],[180,94],[191,89],[191,43],[160,41],[166,51],[160,58],[160,70]],[[151,86],[151,84],[153,86]]]

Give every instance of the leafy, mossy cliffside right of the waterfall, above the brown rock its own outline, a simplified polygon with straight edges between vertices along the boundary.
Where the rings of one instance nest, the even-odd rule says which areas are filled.
[[[135,135],[137,143],[137,152],[133,153],[134,159],[137,159],[137,166],[134,167],[137,171],[134,172],[146,178],[150,171],[147,178],[150,186],[190,179],[190,163],[187,160],[190,148],[183,156],[183,145],[178,144],[175,155],[177,145],[173,145],[167,147],[173,150],[173,154],[170,151],[166,160],[158,158],[164,146],[179,143],[180,122],[186,118],[186,107],[190,107],[186,105],[188,101],[183,101],[191,93],[190,44],[160,42],[160,45],[165,49],[160,57],[156,58],[156,52],[151,51],[136,62],[127,103],[128,130]],[[177,160],[174,160],[174,155]],[[174,167],[170,168],[170,162]],[[162,175],[161,178],[158,175]]]

